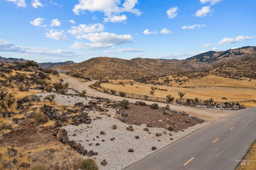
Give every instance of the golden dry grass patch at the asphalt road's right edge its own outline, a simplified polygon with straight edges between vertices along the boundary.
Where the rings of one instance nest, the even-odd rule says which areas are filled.
[[[236,170],[255,170],[256,169],[256,142],[252,144],[252,147],[250,148],[249,152],[244,157],[244,160],[250,160],[249,165],[242,165],[241,163],[236,168]]]

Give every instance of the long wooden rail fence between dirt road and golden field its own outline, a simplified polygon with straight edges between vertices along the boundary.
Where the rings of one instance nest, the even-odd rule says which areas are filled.
[[[120,85],[120,83],[110,83],[110,82],[104,82],[104,83],[108,83],[108,84],[116,84],[116,85]],[[128,84],[128,83],[131,83],[131,82],[126,82],[124,84]],[[138,94],[134,94],[134,93],[128,93],[128,92],[123,92],[123,91],[117,91],[117,90],[113,90],[113,89],[108,89],[106,87],[102,87],[101,85],[99,86],[100,89],[103,89],[104,91],[108,92],[108,93],[112,93],[112,94],[120,94],[121,93],[124,93],[124,96],[125,97],[130,97],[130,98],[134,98],[134,99],[144,99],[144,100],[149,100],[149,101],[158,101],[158,102],[166,102],[168,103],[168,100],[167,98],[162,98],[162,97],[152,97],[152,96],[148,96],[148,95],[138,95]],[[176,99],[176,101],[179,101],[179,102],[186,102],[187,100],[190,100],[190,101],[194,101],[195,99]],[[198,99],[198,103],[204,103],[206,102],[206,100],[201,100],[201,99]],[[247,103],[247,102],[256,102],[256,100],[247,100],[247,101],[229,101],[227,103]],[[214,101],[213,103],[216,103],[216,104],[219,104],[219,105],[223,105],[224,103],[226,102],[220,102],[220,101]]]

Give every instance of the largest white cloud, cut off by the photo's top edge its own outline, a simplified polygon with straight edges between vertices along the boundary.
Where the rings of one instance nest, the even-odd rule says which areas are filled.
[[[142,14],[139,9],[134,8],[136,4],[138,4],[137,0],[125,0],[123,4],[120,0],[79,0],[72,11],[76,15],[85,10],[100,11],[107,16],[104,18],[105,22],[122,22],[127,19],[125,15],[119,16],[122,12],[130,12],[137,16]]]

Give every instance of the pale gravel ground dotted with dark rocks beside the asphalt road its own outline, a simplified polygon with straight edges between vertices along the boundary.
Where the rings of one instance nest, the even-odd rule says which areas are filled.
[[[111,115],[111,117],[108,117],[103,113],[90,111],[88,115],[92,119],[97,116],[102,117],[102,119],[92,121],[89,125],[68,125],[64,127],[68,131],[69,140],[80,142],[88,152],[90,150],[98,152],[97,156],[92,156],[91,158],[96,160],[100,170],[121,170],[149,154],[152,154],[156,151],[151,150],[153,146],[159,150],[160,148],[163,148],[211,123],[205,122],[198,124],[189,127],[188,129],[184,129],[184,132],[171,132],[172,136],[169,134],[170,131],[164,128],[149,128],[149,132],[151,132],[151,134],[149,134],[147,131],[143,130],[146,127],[145,124],[140,126],[132,125],[134,128],[134,131],[132,132],[127,130],[126,127],[129,125],[113,118],[115,113],[116,111],[114,109],[110,110],[107,114]],[[112,129],[112,125],[116,125],[117,128]],[[106,135],[100,134],[101,131],[106,132]],[[157,137],[156,132],[160,132],[162,135]],[[72,134],[76,134],[76,136],[72,136]],[[136,139],[135,136],[139,136],[140,138]],[[111,138],[115,138],[115,140],[111,141]],[[170,140],[170,138],[173,138],[174,140]],[[105,141],[103,142],[102,140]],[[90,143],[92,143],[91,146],[89,146]],[[96,143],[99,143],[100,145],[96,146]],[[128,152],[130,148],[132,148],[134,152]],[[87,156],[84,156],[84,158],[86,157]],[[101,161],[104,159],[108,163],[106,166],[101,164]]]

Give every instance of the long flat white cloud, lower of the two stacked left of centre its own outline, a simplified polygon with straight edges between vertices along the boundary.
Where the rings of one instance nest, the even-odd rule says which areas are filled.
[[[81,38],[85,38],[94,43],[104,43],[110,45],[119,45],[122,43],[130,43],[133,38],[131,35],[116,35],[114,33],[109,32],[101,32],[101,33],[90,33],[86,35],[82,35]]]

